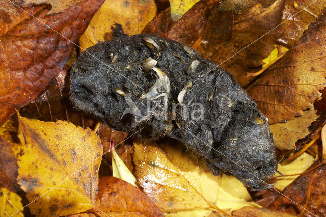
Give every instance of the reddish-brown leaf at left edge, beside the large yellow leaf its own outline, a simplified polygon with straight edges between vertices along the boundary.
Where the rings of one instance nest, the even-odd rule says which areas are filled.
[[[16,193],[19,188],[16,185],[18,165],[12,148],[19,146],[16,137],[17,132],[18,128],[14,126],[11,119],[8,119],[0,126],[0,187],[6,187],[9,191]]]

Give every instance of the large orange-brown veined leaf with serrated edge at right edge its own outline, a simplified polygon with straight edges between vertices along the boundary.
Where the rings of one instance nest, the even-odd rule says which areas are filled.
[[[247,88],[269,123],[302,115],[320,97],[326,79],[324,15],[273,68]]]

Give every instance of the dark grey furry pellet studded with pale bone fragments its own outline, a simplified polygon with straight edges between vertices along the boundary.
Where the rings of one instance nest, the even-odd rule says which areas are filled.
[[[74,105],[119,131],[177,139],[214,174],[263,188],[277,169],[273,135],[232,75],[176,41],[115,34],[74,64]]]

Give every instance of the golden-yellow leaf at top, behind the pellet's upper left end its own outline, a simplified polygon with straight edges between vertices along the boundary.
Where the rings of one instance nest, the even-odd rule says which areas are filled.
[[[79,39],[82,51],[98,41],[111,39],[114,23],[121,24],[128,35],[141,33],[155,17],[156,10],[154,0],[106,0]]]

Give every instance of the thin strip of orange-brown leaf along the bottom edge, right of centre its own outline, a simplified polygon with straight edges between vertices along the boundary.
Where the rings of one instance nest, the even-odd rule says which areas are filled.
[[[265,208],[257,208],[257,207],[243,207],[242,209],[236,210],[232,212],[232,216],[245,217],[245,216],[257,216],[257,217],[291,217],[294,215],[279,212],[279,211],[271,211]]]

